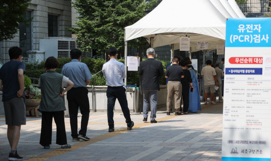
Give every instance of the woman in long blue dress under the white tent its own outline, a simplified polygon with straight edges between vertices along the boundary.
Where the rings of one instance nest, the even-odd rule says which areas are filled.
[[[190,60],[187,60],[186,63],[188,64],[187,68],[190,71],[191,78],[192,78],[192,84],[194,87],[194,91],[189,92],[188,112],[197,112],[198,110],[201,111],[197,73],[195,72],[194,69],[192,69],[192,65],[191,65],[192,62]]]

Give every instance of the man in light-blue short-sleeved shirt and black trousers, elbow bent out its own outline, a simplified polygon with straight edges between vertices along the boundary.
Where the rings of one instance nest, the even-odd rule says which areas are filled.
[[[61,72],[74,83],[73,88],[67,92],[72,141],[79,141],[80,139],[85,141],[90,140],[86,136],[89,119],[89,101],[87,96],[88,90],[86,86],[89,85],[92,75],[87,65],[80,62],[81,55],[82,52],[79,49],[72,49],[72,61],[65,64]],[[81,129],[79,134],[77,133],[78,108],[80,108],[80,112],[82,114]]]

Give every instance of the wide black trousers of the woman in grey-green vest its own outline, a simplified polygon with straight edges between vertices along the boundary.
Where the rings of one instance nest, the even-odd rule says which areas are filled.
[[[40,144],[47,146],[52,144],[52,121],[53,117],[57,126],[56,144],[67,144],[67,136],[64,123],[64,111],[42,112],[42,128]]]

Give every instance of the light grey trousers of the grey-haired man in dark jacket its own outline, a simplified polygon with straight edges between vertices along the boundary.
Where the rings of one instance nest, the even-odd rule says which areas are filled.
[[[151,121],[155,120],[156,118],[156,111],[157,111],[157,94],[158,91],[154,90],[147,90],[143,91],[144,95],[144,103],[143,103],[143,116],[144,118],[148,118],[149,113],[149,105],[151,102]]]

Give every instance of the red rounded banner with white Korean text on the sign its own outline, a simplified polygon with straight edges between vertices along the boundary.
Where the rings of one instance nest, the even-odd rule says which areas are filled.
[[[262,57],[231,57],[231,64],[262,64]]]

